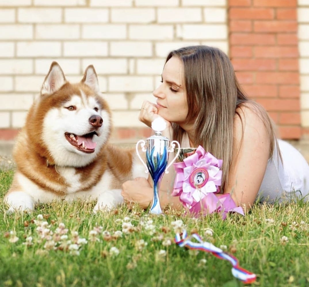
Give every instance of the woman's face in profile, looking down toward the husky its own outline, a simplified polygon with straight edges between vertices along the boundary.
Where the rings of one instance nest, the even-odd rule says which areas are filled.
[[[162,73],[162,84],[155,89],[158,114],[169,122],[179,125],[188,115],[187,93],[184,86],[184,68],[178,57],[171,57]]]

